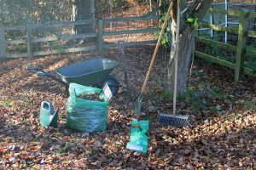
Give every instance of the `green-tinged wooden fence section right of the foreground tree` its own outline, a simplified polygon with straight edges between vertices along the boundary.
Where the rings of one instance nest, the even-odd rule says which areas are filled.
[[[228,49],[234,51],[236,53],[236,62],[230,62],[227,59],[221,59],[218,56],[212,56],[210,54],[206,54],[198,50],[195,51],[195,56],[235,70],[236,82],[240,80],[241,73],[245,73],[247,75],[255,77],[255,71],[252,68],[244,66],[244,61],[246,60],[246,54],[253,54],[256,56],[255,49],[247,48],[247,37],[256,38],[256,31],[247,30],[248,20],[256,18],[256,13],[247,12],[243,10],[222,10],[217,8],[211,8],[210,12],[217,14],[229,14],[230,16],[237,17],[239,20],[238,28],[217,26],[205,22],[200,23],[200,26],[210,28],[214,31],[227,31],[232,34],[236,34],[238,35],[238,42],[235,46],[224,42],[214,41],[206,37],[196,37],[197,42],[203,42],[210,46],[215,46],[218,48],[222,48],[224,50]]]

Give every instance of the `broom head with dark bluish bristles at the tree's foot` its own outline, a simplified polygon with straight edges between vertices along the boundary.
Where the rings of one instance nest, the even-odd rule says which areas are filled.
[[[159,122],[161,125],[164,125],[164,126],[172,126],[172,127],[190,126],[189,116],[160,114]]]

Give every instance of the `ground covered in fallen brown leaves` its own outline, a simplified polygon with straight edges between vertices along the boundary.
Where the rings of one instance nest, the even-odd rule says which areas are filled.
[[[76,133],[67,127],[65,88],[32,75],[26,65],[54,71],[93,54],[63,54],[0,63],[0,169],[256,169],[256,83],[252,77],[233,82],[228,69],[195,60],[188,94],[178,109],[189,115],[191,127],[161,127],[158,113],[172,111],[172,95],[164,93],[164,59],[158,59],[144,99],[143,119],[150,121],[148,153],[125,149],[129,141],[133,104],[143,84],[153,47],[127,48],[129,85],[109,105],[108,129]],[[119,58],[115,50],[109,59]],[[124,82],[123,72],[113,72]],[[124,83],[123,83],[124,84]],[[59,108],[59,127],[39,124],[44,99]]]

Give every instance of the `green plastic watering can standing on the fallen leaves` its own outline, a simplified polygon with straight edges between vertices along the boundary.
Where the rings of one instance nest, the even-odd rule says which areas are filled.
[[[51,102],[43,101],[40,109],[40,124],[43,127],[57,127],[58,112],[59,110],[54,110]]]

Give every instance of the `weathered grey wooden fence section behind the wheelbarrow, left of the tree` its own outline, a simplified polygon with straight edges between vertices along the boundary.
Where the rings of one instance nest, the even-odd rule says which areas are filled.
[[[19,58],[19,57],[34,57],[49,54],[63,54],[72,52],[84,52],[84,51],[96,51],[98,54],[103,53],[104,48],[114,48],[117,44],[105,44],[103,39],[107,36],[123,35],[123,34],[137,34],[137,33],[153,33],[158,31],[158,27],[124,30],[124,31],[105,31],[105,24],[109,22],[120,21],[137,21],[137,20],[158,20],[159,17],[155,14],[146,14],[140,17],[127,17],[127,18],[112,18],[106,20],[78,20],[78,21],[64,21],[48,24],[32,24],[27,26],[15,26],[15,27],[0,27],[0,59],[4,58]],[[53,29],[65,26],[81,26],[81,25],[96,25],[97,29],[95,33],[89,34],[71,34],[71,35],[51,35],[46,37],[33,37],[34,32],[39,32],[42,29]],[[9,40],[7,39],[8,31],[24,31],[26,35],[23,38]],[[75,48],[61,48],[61,49],[44,49],[41,51],[34,51],[35,44],[38,42],[57,42],[67,40],[77,40],[85,38],[95,38],[96,43],[86,47]],[[140,41],[140,42],[125,42],[124,46],[134,46],[140,44],[147,44],[153,41]],[[24,45],[26,47],[26,53],[7,53],[9,45]]]

